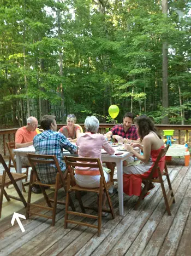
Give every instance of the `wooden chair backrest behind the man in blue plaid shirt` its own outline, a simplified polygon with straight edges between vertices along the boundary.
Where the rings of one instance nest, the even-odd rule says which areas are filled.
[[[37,155],[37,154],[32,154],[32,153],[27,153],[28,161],[31,164],[31,167],[33,169],[33,172],[37,175],[37,179],[39,180],[38,173],[36,170],[35,165],[37,163],[41,164],[55,164],[57,172],[60,174],[59,177],[64,184],[64,178],[63,178],[63,173],[61,171],[61,168],[59,167],[58,160],[55,155]]]

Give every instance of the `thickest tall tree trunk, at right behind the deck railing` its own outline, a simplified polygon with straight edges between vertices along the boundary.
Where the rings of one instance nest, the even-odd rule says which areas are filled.
[[[168,14],[168,0],[162,0],[162,11],[167,18]],[[168,42],[163,42],[163,107],[169,107],[169,95],[168,95]],[[168,124],[169,117],[165,116],[162,120],[162,124]]]

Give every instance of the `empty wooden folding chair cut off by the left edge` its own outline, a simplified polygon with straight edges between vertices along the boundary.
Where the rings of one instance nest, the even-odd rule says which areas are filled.
[[[0,218],[1,218],[3,195],[5,196],[7,201],[10,201],[10,198],[13,198],[15,200],[23,202],[25,207],[27,206],[27,202],[25,201],[25,198],[23,197],[22,192],[20,191],[19,187],[16,184],[16,181],[25,179],[26,174],[11,173],[1,154],[0,154],[0,163],[2,163],[3,168],[4,168],[3,175],[0,175],[0,189],[1,189],[1,191],[0,191]],[[4,187],[7,185],[10,185],[10,184],[13,184],[19,197],[11,196],[11,195],[7,194]]]

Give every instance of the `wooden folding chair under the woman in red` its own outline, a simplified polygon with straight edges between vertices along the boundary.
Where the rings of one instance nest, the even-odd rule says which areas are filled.
[[[163,191],[163,197],[164,197],[164,201],[165,201],[165,205],[166,205],[166,211],[168,212],[168,215],[171,215],[170,212],[170,206],[172,203],[175,203],[175,197],[172,191],[172,186],[171,186],[171,182],[170,182],[170,178],[169,178],[169,173],[168,173],[168,168],[166,166],[166,162],[165,162],[165,166],[164,166],[164,171],[163,173],[160,172],[160,168],[158,166],[158,163],[160,161],[160,158],[164,157],[166,155],[166,151],[169,149],[169,145],[167,145],[164,149],[162,149],[157,157],[157,160],[151,170],[150,175],[148,175],[148,178],[146,179],[142,179],[142,181],[145,182],[145,186],[141,191],[141,195],[139,196],[138,201],[136,202],[136,205],[134,207],[134,210],[138,209],[139,203],[141,202],[142,198],[144,198],[144,195],[147,193],[147,189],[149,184],[152,183],[160,183],[160,186],[162,188]],[[153,174],[156,173],[156,171],[158,172],[158,178],[153,178]],[[164,187],[164,181],[163,181],[163,176],[166,176],[166,179],[168,181],[168,185],[169,185],[169,192],[166,195],[166,191],[165,191],[165,187]]]

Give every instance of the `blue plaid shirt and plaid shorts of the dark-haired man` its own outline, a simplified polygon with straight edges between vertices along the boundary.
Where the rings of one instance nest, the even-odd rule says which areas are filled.
[[[65,163],[62,161],[62,149],[70,153],[76,153],[77,148],[62,134],[45,130],[43,133],[34,136],[33,145],[35,153],[40,155],[55,155],[62,172],[65,171]],[[56,166],[53,164],[38,164],[36,166],[38,177],[42,183],[51,184],[56,181]]]

